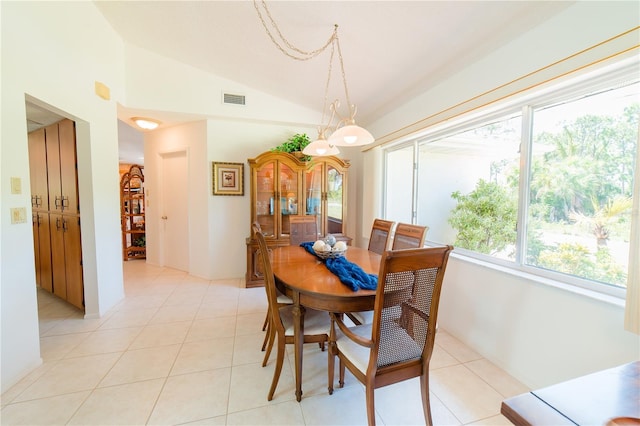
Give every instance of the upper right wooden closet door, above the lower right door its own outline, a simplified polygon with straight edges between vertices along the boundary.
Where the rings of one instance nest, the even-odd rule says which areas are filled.
[[[76,131],[74,122],[63,120],[58,123],[60,144],[60,194],[63,213],[78,213],[78,173],[76,161]]]

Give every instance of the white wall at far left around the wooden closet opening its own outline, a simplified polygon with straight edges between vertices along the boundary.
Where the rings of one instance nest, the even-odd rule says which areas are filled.
[[[41,363],[34,272],[25,95],[78,123],[78,175],[86,315],[123,296],[116,100],[123,46],[92,3],[2,2],[2,391]],[[94,82],[111,88],[111,101]],[[22,194],[8,191],[10,177]],[[10,207],[27,223],[11,225]]]

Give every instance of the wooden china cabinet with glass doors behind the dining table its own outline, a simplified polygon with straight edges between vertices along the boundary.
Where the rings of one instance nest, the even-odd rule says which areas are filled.
[[[347,171],[349,162],[337,157],[314,157],[305,162],[285,152],[265,152],[249,159],[251,221],[260,225],[270,248],[289,245],[289,218],[316,217],[318,238],[331,233],[346,236]],[[246,286],[264,285],[258,243],[247,244]]]

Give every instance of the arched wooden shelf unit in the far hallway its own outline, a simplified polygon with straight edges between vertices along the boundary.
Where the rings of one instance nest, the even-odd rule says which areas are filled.
[[[147,255],[144,211],[144,174],[142,166],[134,164],[120,179],[123,260]]]

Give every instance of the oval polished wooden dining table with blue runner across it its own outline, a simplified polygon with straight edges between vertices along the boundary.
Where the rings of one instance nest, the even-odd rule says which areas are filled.
[[[349,247],[346,258],[369,274],[379,271],[381,256],[367,249]],[[370,311],[373,310],[376,292],[351,290],[320,259],[300,246],[274,249],[271,266],[276,286],[293,300],[296,400],[300,401],[304,309],[340,313]]]

